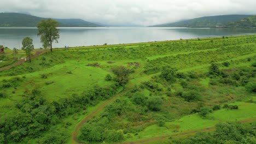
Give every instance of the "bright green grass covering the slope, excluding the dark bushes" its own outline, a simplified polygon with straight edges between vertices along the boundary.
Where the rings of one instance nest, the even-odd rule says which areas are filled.
[[[214,39],[211,43],[210,40]],[[255,113],[254,103],[236,102],[240,109],[238,110],[219,110],[210,113],[207,118],[202,119],[197,114],[190,115],[191,109],[214,104],[231,103],[237,100],[255,100],[255,94],[247,92],[244,86],[230,86],[218,84],[211,86],[211,78],[206,74],[209,71],[210,63],[213,61],[219,64],[220,69],[236,71],[241,69],[253,70],[252,63],[256,61],[256,35],[247,35],[240,37],[205,38],[201,40],[175,40],[160,41],[152,43],[107,45],[107,46],[89,46],[75,47],[69,50],[54,49],[53,53],[43,54],[32,59],[32,62],[25,62],[9,70],[0,71],[0,87],[3,80],[9,81],[14,77],[20,77],[21,81],[17,86],[9,88],[0,88],[8,95],[7,98],[0,98],[0,118],[15,116],[20,112],[17,104],[27,98],[32,89],[38,88],[42,91],[42,97],[49,103],[59,101],[60,99],[71,98],[72,94],[83,94],[84,91],[93,88],[95,85],[105,87],[115,83],[114,81],[105,81],[107,74],[114,77],[112,68],[124,66],[133,69],[134,73],[129,75],[129,82],[126,89],[117,99],[127,100],[129,111],[123,111],[122,115],[116,116],[112,122],[106,123],[106,128],[111,130],[129,130],[134,131],[125,134],[125,141],[146,139],[149,137],[176,134],[189,130],[199,130],[212,127],[219,121],[238,121],[241,119],[252,118]],[[37,50],[34,51],[34,53]],[[19,51],[19,56],[24,57],[24,53]],[[13,61],[11,51],[7,51],[9,60],[5,65],[16,62]],[[251,61],[248,61],[251,58]],[[228,61],[229,67],[224,67],[223,62]],[[139,65],[130,65],[137,62]],[[88,64],[98,63],[96,67],[89,67]],[[2,63],[3,64],[3,63]],[[3,66],[3,65],[2,65]],[[0,67],[1,63],[0,63]],[[180,80],[174,83],[168,83],[159,78],[161,69],[164,66],[176,68],[178,72],[186,75],[195,73],[203,75],[198,79],[186,78],[183,81],[188,83],[189,88],[183,88]],[[71,74],[69,74],[71,72]],[[233,72],[230,72],[230,74]],[[248,71],[246,73],[249,73]],[[42,79],[41,75],[46,75],[47,79]],[[22,78],[25,77],[25,78]],[[217,79],[217,78],[213,78]],[[218,78],[219,79],[219,78]],[[248,79],[255,81],[255,77]],[[141,88],[143,82],[151,81],[158,86],[156,89]],[[46,85],[45,83],[51,83]],[[237,81],[238,83],[241,80]],[[134,105],[131,102],[133,89],[140,88],[139,91],[147,98],[160,97],[163,100],[160,111],[146,111],[144,106]],[[170,88],[168,90],[168,88]],[[183,98],[175,95],[178,91],[187,92],[191,89],[202,94],[201,101],[185,101]],[[121,89],[121,87],[119,88]],[[28,92],[28,93],[26,93]],[[86,110],[78,111],[72,115],[61,118],[60,123],[53,125],[50,130],[42,133],[42,137],[25,139],[23,143],[36,143],[38,140],[48,137],[55,130],[66,131],[71,136],[75,125],[85,116],[96,110],[104,101],[97,101],[96,105],[91,105]],[[112,103],[115,105],[115,101]],[[123,107],[121,107],[123,108]],[[97,124],[101,121],[101,114],[106,109],[97,113],[95,118],[89,121]],[[137,115],[139,113],[139,115]],[[142,114],[141,114],[142,113]],[[224,115],[225,114],[225,115]],[[165,122],[164,127],[158,127],[156,124],[159,119]],[[71,125],[65,125],[65,123]],[[129,137],[128,134],[132,136]],[[137,135],[135,135],[137,134]],[[70,143],[70,137],[67,142]]]

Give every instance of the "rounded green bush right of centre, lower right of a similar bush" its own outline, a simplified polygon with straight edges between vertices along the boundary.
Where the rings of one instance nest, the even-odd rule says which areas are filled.
[[[152,111],[160,111],[162,99],[160,97],[150,97],[147,101],[148,109]]]

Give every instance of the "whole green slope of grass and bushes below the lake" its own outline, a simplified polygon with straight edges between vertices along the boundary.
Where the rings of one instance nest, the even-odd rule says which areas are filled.
[[[256,35],[54,49],[0,71],[0,143],[76,143],[71,135],[91,113],[76,129],[80,142],[216,124],[210,134],[163,141],[250,142],[251,126],[229,122],[255,122],[255,52]]]

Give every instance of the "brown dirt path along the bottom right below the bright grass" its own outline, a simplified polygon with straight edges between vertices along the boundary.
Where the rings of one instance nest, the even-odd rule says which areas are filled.
[[[253,122],[256,121],[256,118],[251,118],[251,119],[245,119],[242,121],[238,121],[241,123],[249,123],[249,122]],[[157,140],[162,140],[162,139],[167,139],[168,137],[175,137],[175,136],[183,136],[183,135],[190,135],[190,134],[196,134],[199,131],[210,131],[210,130],[214,130],[214,127],[210,127],[210,128],[204,128],[201,130],[193,130],[193,131],[187,131],[184,133],[179,133],[179,134],[172,134],[172,135],[165,135],[165,136],[158,136],[158,137],[152,137],[150,139],[145,139],[145,140],[137,140],[137,141],[129,141],[129,142],[120,142],[118,144],[135,144],[135,143],[145,143],[145,142],[154,142]]]

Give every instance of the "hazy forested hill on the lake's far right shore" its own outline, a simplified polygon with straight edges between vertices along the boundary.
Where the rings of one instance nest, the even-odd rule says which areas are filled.
[[[252,15],[218,15],[205,16],[191,20],[184,20],[174,23],[155,25],[154,27],[190,27],[190,28],[218,28],[226,26],[227,23],[240,21]]]

